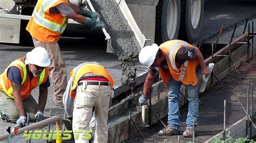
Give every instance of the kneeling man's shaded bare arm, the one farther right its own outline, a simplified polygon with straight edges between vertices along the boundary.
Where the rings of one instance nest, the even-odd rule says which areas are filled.
[[[48,96],[48,88],[39,87],[39,97],[38,97],[38,107],[37,107],[38,112],[42,112],[42,113],[44,112],[47,96]]]

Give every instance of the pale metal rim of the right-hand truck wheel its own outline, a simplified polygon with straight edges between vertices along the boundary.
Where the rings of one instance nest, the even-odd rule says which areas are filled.
[[[191,0],[190,5],[191,24],[194,29],[198,27],[201,15],[201,0]]]

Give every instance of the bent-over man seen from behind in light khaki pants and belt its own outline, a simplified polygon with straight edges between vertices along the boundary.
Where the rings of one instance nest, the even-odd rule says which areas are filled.
[[[85,62],[70,72],[63,96],[66,115],[72,120],[72,130],[89,130],[92,110],[95,111],[95,142],[107,142],[107,113],[114,81],[97,62]],[[88,142],[79,136],[76,142]]]

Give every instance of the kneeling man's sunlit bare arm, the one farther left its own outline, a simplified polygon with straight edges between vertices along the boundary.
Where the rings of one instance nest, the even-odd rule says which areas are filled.
[[[21,85],[11,82],[12,89],[14,90],[14,102],[16,109],[18,110],[19,116],[25,116],[25,111],[23,107],[23,102],[22,102],[22,95],[21,95]]]

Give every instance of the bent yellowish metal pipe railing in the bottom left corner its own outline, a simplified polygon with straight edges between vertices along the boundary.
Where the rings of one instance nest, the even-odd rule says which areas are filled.
[[[44,127],[45,125],[53,123],[54,121],[56,121],[56,130],[61,131],[62,130],[62,119],[60,119],[59,116],[53,116],[51,118],[48,118],[48,119],[45,119],[42,121],[38,121],[35,124],[31,124],[29,126],[19,128],[19,130],[16,134],[14,134],[14,131],[11,131],[11,134],[9,134],[9,133],[1,134],[0,141],[5,140],[6,138],[8,138],[9,135],[10,135],[10,137],[14,137],[14,135],[19,135],[19,134],[24,133],[24,131],[30,131],[30,130],[35,130],[37,128]],[[56,142],[57,142],[57,140],[56,140]]]

